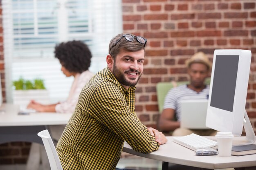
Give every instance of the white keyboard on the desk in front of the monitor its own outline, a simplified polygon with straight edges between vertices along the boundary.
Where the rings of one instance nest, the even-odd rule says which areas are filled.
[[[217,142],[200,135],[191,133],[190,135],[173,137],[173,142],[185,146],[191,150],[200,148],[214,148],[217,146]]]

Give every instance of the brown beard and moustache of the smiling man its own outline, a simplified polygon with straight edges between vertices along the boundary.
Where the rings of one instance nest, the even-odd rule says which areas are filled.
[[[125,74],[126,74],[126,73],[129,73],[129,72],[136,72],[137,74],[139,74],[139,77],[138,77],[138,79],[137,79],[136,82],[131,82],[131,81],[129,81],[129,79],[127,79],[127,78],[125,77]],[[124,86],[129,86],[129,87],[131,87],[131,86],[135,86],[135,85],[138,83],[138,81],[139,81],[139,79],[140,79],[140,77],[141,77],[142,74],[141,74],[139,71],[137,71],[137,70],[132,70],[132,69],[126,70],[126,71],[124,71],[124,73],[123,73],[119,68],[117,68],[117,66],[116,66],[116,64],[115,64],[115,62],[114,62],[114,65],[113,65],[113,75],[116,77],[117,81],[118,81],[120,84],[123,84]],[[136,79],[136,78],[134,78],[134,79]]]

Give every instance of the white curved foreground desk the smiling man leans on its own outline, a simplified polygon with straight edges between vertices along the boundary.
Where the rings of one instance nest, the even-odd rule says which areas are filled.
[[[173,142],[173,137],[167,137],[168,142],[161,145],[155,152],[143,154],[133,150],[126,142],[123,151],[132,155],[145,157],[163,161],[162,170],[167,170],[168,163],[181,164],[186,166],[194,166],[209,169],[222,169],[222,168],[239,168],[239,167],[253,167],[256,166],[256,154],[244,156],[231,156],[219,157],[218,155],[212,156],[195,156],[194,151]],[[209,137],[215,140],[215,137]],[[235,137],[239,138],[239,137]],[[242,138],[242,137],[240,137]],[[256,169],[256,167],[255,167]]]

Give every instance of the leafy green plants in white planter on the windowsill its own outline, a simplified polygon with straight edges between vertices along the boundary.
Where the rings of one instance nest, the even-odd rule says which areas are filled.
[[[49,103],[49,92],[45,88],[43,79],[31,81],[20,77],[13,81],[13,86],[13,104],[24,108],[32,99],[42,104]]]

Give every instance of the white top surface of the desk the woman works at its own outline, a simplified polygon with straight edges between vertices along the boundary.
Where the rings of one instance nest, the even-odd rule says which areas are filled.
[[[18,115],[19,106],[2,104],[0,107],[0,126],[38,126],[67,124],[71,113],[30,113]]]

